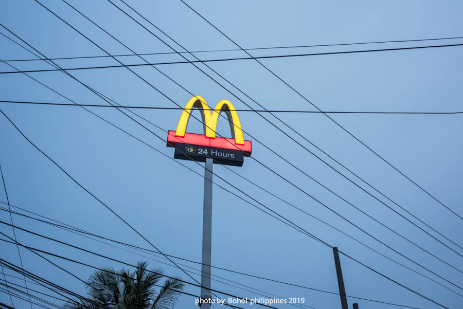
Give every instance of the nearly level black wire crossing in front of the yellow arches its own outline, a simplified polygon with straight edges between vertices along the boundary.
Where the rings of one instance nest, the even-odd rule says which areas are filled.
[[[5,60],[2,60],[5,62]],[[70,104],[70,103],[50,103],[50,102],[31,102],[31,101],[7,101],[0,100],[3,103],[33,104],[33,105],[56,105],[56,106],[90,106],[90,107],[110,107],[110,108],[136,108],[145,110],[187,110],[192,111],[195,108],[199,111],[203,108],[182,108],[182,107],[158,107],[158,106],[132,106],[132,105],[103,105],[103,104]],[[209,110],[207,110],[209,111]],[[451,115],[463,114],[463,112],[365,112],[365,111],[294,111],[294,110],[234,110],[236,112],[254,112],[254,113],[301,113],[301,114],[415,114],[415,115]]]

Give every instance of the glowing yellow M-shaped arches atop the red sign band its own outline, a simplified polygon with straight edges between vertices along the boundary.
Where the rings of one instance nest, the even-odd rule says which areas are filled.
[[[235,143],[244,145],[243,130],[241,129],[240,118],[238,117],[238,113],[235,110],[235,106],[233,106],[233,104],[231,104],[228,100],[221,100],[219,103],[217,103],[216,107],[214,107],[211,113],[206,100],[200,96],[194,96],[188,101],[182,112],[182,115],[180,116],[179,124],[177,125],[177,130],[175,131],[175,136],[185,136],[186,127],[188,125],[188,120],[190,119],[193,108],[199,109],[201,118],[203,120],[204,135],[211,138],[216,137],[217,121],[219,120],[219,115],[221,112],[225,112],[228,118],[228,122],[230,123],[231,137],[235,139]]]

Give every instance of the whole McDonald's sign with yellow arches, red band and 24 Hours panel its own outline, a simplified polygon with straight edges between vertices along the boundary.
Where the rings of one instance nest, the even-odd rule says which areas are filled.
[[[201,113],[204,134],[187,133],[186,128],[191,112],[198,108]],[[224,112],[230,123],[231,138],[216,136],[217,121]],[[175,131],[169,130],[167,147],[175,148],[174,158],[204,162],[207,157],[215,163],[242,166],[244,157],[251,156],[251,141],[244,140],[240,118],[233,104],[221,100],[210,110],[206,100],[200,96],[192,97],[180,116]]]

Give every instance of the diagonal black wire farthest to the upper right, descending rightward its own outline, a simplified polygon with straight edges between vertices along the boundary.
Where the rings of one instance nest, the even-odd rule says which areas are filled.
[[[108,0],[110,1],[110,0]],[[123,0],[121,0],[123,2]],[[213,28],[215,28],[217,31],[219,31],[221,34],[224,35],[225,38],[227,38],[230,42],[232,42],[233,44],[235,44],[238,48],[240,48],[241,50],[243,50],[243,48],[241,46],[239,46],[235,41],[231,40],[224,32],[222,32],[221,30],[219,30],[219,28],[217,28],[216,26],[214,26],[212,23],[210,23],[207,19],[205,19],[205,17],[203,15],[201,15],[198,11],[195,11],[191,6],[189,6],[187,3],[185,3],[184,0],[180,0],[183,4],[185,4],[188,8],[190,8],[193,12],[195,12],[198,16],[200,16],[206,23],[208,23],[209,25],[211,25]],[[125,3],[125,2],[124,2]],[[126,4],[127,5],[127,4]],[[460,45],[463,45],[463,44],[460,44]],[[456,46],[456,45],[455,45]],[[437,47],[437,46],[436,46]],[[443,46],[442,46],[443,47]],[[421,47],[423,48],[423,47]],[[405,49],[415,49],[414,47],[405,47]],[[390,50],[393,50],[393,49],[390,49]],[[298,94],[301,98],[305,99],[308,103],[310,103],[313,107],[315,107],[318,111],[322,111],[320,110],[315,104],[313,104],[310,100],[308,100],[305,96],[303,96],[301,93],[299,93],[295,88],[293,88],[290,84],[288,84],[286,81],[284,81],[283,79],[281,79],[278,75],[276,75],[272,70],[270,70],[268,67],[266,67],[264,64],[262,64],[257,58],[257,57],[253,57],[250,53],[248,53],[247,51],[243,50],[246,54],[248,54],[248,56],[250,56],[252,59],[256,60],[262,67],[264,67],[266,70],[268,70],[272,75],[274,75],[277,79],[279,79],[281,82],[283,82],[285,85],[287,85],[289,88],[291,88],[296,94]],[[381,50],[377,50],[377,51],[381,51]],[[365,52],[365,51],[364,51]],[[343,52],[343,53],[352,53],[352,51],[350,52]],[[429,193],[428,191],[424,190],[421,186],[419,186],[417,183],[415,183],[415,181],[413,181],[411,178],[409,178],[408,176],[406,176],[404,173],[402,173],[400,170],[398,170],[395,166],[391,165],[391,163],[389,163],[386,159],[384,159],[382,156],[380,156],[377,152],[373,151],[370,147],[368,147],[364,142],[362,142],[360,139],[358,139],[357,137],[355,137],[352,133],[350,133],[347,129],[345,129],[341,124],[337,123],[334,119],[332,119],[330,116],[326,115],[331,121],[333,121],[335,124],[337,124],[341,129],[343,129],[346,133],[348,133],[350,136],[352,136],[353,138],[355,138],[357,141],[359,141],[364,147],[366,147],[368,150],[370,150],[372,153],[376,154],[379,158],[381,158],[384,162],[386,162],[390,167],[394,168],[397,172],[399,172],[402,176],[404,176],[405,178],[407,178],[409,181],[411,181],[415,186],[417,186],[418,188],[420,188],[423,192],[425,192],[426,194],[428,194],[430,197],[432,197],[436,202],[438,202],[439,204],[441,204],[443,207],[447,208],[449,211],[451,211],[454,215],[456,215],[457,217],[459,217],[461,220],[463,220],[463,217],[459,216],[456,212],[454,212],[452,209],[450,209],[448,206],[444,205],[442,202],[440,202],[436,197],[434,197],[431,193]]]

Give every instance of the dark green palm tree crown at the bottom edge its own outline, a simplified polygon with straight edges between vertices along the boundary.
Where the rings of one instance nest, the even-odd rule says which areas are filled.
[[[168,278],[163,285],[161,269],[147,270],[138,262],[135,271],[112,267],[95,270],[87,280],[87,299],[68,301],[66,309],[172,309],[184,284]],[[157,292],[157,293],[156,293]]]

